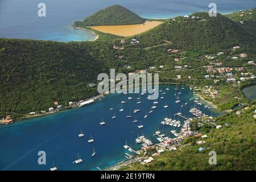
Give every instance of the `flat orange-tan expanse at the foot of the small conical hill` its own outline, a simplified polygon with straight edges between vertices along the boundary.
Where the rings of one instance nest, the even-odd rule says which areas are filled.
[[[146,21],[144,24],[129,24],[120,26],[92,26],[90,28],[101,31],[108,34],[114,34],[118,36],[132,36],[140,34],[144,31],[150,30],[161,24],[159,21]]]

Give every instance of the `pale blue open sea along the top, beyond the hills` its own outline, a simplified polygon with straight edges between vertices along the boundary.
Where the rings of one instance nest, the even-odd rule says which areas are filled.
[[[46,17],[38,4],[46,4]],[[210,0],[0,0],[0,37],[53,40],[93,40],[89,31],[69,27],[75,20],[111,5],[122,5],[143,18],[172,18],[195,11],[209,11]],[[215,0],[218,13],[256,7],[256,0]]]

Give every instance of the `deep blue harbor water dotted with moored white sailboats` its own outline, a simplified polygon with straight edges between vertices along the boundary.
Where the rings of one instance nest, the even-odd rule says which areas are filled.
[[[165,86],[160,86],[164,89]],[[48,170],[52,166],[52,161],[59,170],[96,170],[96,167],[106,168],[125,159],[125,148],[127,144],[135,149],[141,147],[135,143],[138,134],[144,134],[157,143],[152,134],[158,130],[164,134],[175,137],[170,133],[175,129],[172,126],[163,126],[160,124],[164,116],[173,118],[173,115],[181,110],[181,113],[192,117],[188,110],[194,103],[189,100],[193,97],[192,91],[188,88],[181,89],[181,102],[188,101],[188,105],[180,107],[175,103],[174,86],[166,90],[164,99],[158,99],[158,107],[153,113],[148,114],[144,119],[146,111],[149,111],[152,100],[147,100],[147,94],[110,94],[104,100],[96,103],[76,108],[60,113],[48,115],[46,117],[27,119],[23,122],[15,122],[11,125],[0,126],[0,169],[1,170]],[[137,105],[136,98],[141,97],[142,104]],[[128,100],[133,97],[133,100]],[[122,113],[119,112],[121,101],[127,101],[123,104]],[[163,106],[169,105],[167,109]],[[113,105],[114,110],[109,108]],[[201,110],[209,115],[219,115],[216,110],[205,109],[200,106]],[[138,129],[138,123],[133,123],[135,119],[134,109],[141,109],[136,114],[139,121],[144,125],[143,129]],[[127,119],[128,113],[133,118]],[[112,119],[115,113],[117,118]],[[104,118],[106,125],[100,126],[101,118]],[[176,118],[177,119],[177,118]],[[181,119],[183,121],[184,119]],[[77,135],[83,130],[85,137],[79,138]],[[176,128],[177,129],[177,128]],[[92,135],[94,142],[88,143]],[[96,150],[96,156],[91,158],[93,147]],[[39,165],[38,152],[46,151],[46,165]],[[77,158],[77,152],[80,153],[84,162],[72,164]]]

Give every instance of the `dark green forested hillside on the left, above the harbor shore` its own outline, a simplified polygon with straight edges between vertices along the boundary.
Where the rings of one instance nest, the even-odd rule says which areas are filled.
[[[27,114],[95,95],[88,83],[117,67],[113,55],[101,42],[0,39],[0,110]]]

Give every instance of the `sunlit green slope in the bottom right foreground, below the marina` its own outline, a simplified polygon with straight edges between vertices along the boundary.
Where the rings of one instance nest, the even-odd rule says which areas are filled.
[[[253,118],[256,107],[243,110],[241,115],[235,111],[216,119],[212,124],[204,123],[198,127],[195,121],[192,129],[208,135],[206,143],[198,146],[201,138],[189,137],[177,151],[166,151],[154,157],[151,164],[134,163],[127,170],[255,170],[256,168],[256,125]],[[225,124],[226,123],[226,124]],[[216,125],[222,125],[216,129]],[[205,150],[199,151],[199,147]],[[209,151],[216,151],[217,164],[210,165]]]

